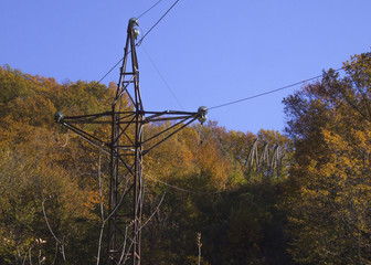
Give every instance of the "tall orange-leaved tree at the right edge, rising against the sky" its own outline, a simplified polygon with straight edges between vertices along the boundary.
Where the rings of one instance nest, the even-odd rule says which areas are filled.
[[[284,99],[294,165],[286,206],[300,264],[371,264],[370,54]]]

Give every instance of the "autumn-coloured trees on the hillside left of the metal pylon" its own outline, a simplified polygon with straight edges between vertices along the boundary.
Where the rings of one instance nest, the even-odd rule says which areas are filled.
[[[68,264],[91,264],[99,199],[96,169],[86,161],[96,161],[97,151],[68,141],[53,116],[60,108],[98,108],[110,91],[96,83],[60,85],[6,66],[0,92],[0,263],[52,264],[65,257]]]

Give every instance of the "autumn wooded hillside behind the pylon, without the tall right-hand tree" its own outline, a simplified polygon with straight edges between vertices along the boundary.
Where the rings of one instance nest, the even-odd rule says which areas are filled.
[[[114,85],[59,84],[4,66],[0,92],[0,263],[95,263],[102,215],[107,216],[108,158],[53,116],[109,110]],[[125,98],[121,105],[132,109]],[[146,125],[145,139],[170,125]],[[109,127],[82,126],[109,141]],[[256,139],[259,148],[268,142],[289,150],[277,131],[227,131],[209,121],[182,129],[146,155],[144,265],[198,263],[198,233],[202,264],[287,264],[285,211],[277,206],[287,170],[283,165],[274,178],[267,170],[248,170],[244,162]]]

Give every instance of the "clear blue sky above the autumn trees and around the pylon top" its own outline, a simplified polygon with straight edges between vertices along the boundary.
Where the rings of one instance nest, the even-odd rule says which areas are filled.
[[[123,57],[128,20],[156,2],[0,0],[0,65],[98,81]],[[173,2],[140,18],[144,33]],[[339,68],[370,51],[370,0],[180,0],[137,50],[145,108],[193,112]],[[102,83],[117,80],[118,67]],[[229,130],[282,130],[282,99],[298,88],[211,109],[209,118]]]

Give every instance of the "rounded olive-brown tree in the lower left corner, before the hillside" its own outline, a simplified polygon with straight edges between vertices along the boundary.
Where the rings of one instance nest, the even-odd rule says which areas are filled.
[[[94,225],[94,195],[44,153],[3,151],[0,172],[0,256],[4,264],[24,259],[78,264],[75,240],[83,241]],[[84,248],[80,255],[84,256]],[[59,253],[62,252],[62,255]],[[85,256],[84,258],[87,258]],[[92,259],[92,258],[89,258]]]

